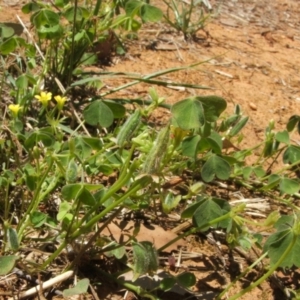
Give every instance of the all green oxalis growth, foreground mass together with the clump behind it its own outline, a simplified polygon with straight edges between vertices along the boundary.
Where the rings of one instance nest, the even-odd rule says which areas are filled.
[[[74,102],[74,96],[64,94],[64,88],[47,85],[47,76],[56,78],[53,82],[59,82],[67,91],[96,81],[97,78],[76,76],[76,68],[82,66],[85,59],[90,59],[83,58],[83,49],[88,49],[96,38],[97,31],[89,32],[94,28],[93,17],[103,13],[102,22],[110,13],[107,20],[111,22],[111,16],[116,15],[118,21],[112,21],[108,27],[117,28],[122,24],[124,28],[128,25],[126,22],[133,26],[135,21],[132,20],[146,21],[149,11],[155,11],[155,8],[144,1],[113,1],[114,6],[108,7],[107,12],[102,6],[104,2],[96,1],[96,5],[91,4],[94,9],[87,12],[78,3],[76,7],[69,1],[55,4],[55,11],[53,7],[36,3],[24,8],[33,14],[39,48],[43,50],[50,45],[50,50],[44,51],[46,63],[41,64],[44,70],[41,76],[34,72],[39,64],[35,55],[37,48],[14,36],[10,29],[1,29],[1,88],[3,92],[9,90],[8,95],[14,102],[7,103],[7,112],[1,119],[3,242],[0,274],[8,274],[16,265],[37,274],[66,256],[66,269],[76,270],[81,268],[82,261],[86,262],[86,254],[90,259],[97,254],[120,262],[116,273],[95,266],[98,273],[141,297],[158,299],[157,290],[168,291],[175,284],[188,289],[196,283],[195,276],[190,272],[170,275],[151,291],[139,286],[137,279],[144,274],[155,274],[160,253],[175,241],[216,228],[225,232],[226,243],[232,249],[239,246],[249,251],[255,247],[258,251],[257,260],[236,281],[256,268],[264,258],[269,259],[261,277],[230,299],[237,299],[258,286],[278,268],[299,267],[299,209],[294,205],[294,199],[299,197],[300,148],[290,137],[290,133],[299,128],[299,116],[292,116],[286,130],[279,132],[275,131],[271,121],[259,145],[240,150],[241,130],[248,117],[243,115],[239,105],[232,114],[227,112],[225,115],[226,101],[217,96],[190,97],[170,106],[157,94],[154,85],[170,85],[157,77],[183,69],[174,68],[143,77],[125,74],[129,83],[89,98],[86,105],[73,112],[76,122],[75,126],[70,126],[69,106]],[[73,24],[68,16],[75,18],[75,31],[61,28],[63,17],[67,24]],[[126,22],[122,23],[122,18]],[[63,38],[67,38],[66,44],[58,48]],[[64,66],[62,62],[70,63],[68,55],[74,54],[72,47],[79,41],[84,44],[78,44],[83,47],[79,48],[83,52],[78,52],[82,56],[78,60],[73,57],[76,63]],[[15,52],[20,53],[19,49],[26,51],[27,56],[25,60],[22,56],[14,56],[17,73],[11,74],[6,65]],[[43,82],[47,89],[41,89]],[[139,82],[153,86],[147,99],[111,98],[114,92]],[[130,103],[129,108],[124,103]],[[157,107],[168,109],[171,118],[164,126],[153,128],[147,120]],[[245,159],[254,150],[260,155],[253,165],[248,166]],[[279,159],[284,166],[273,171],[274,163]],[[178,195],[165,188],[169,176],[182,176],[187,171],[195,176],[191,176],[185,192]],[[109,176],[112,182],[107,184],[105,177]],[[280,205],[288,207],[291,214],[273,212],[260,223],[245,218],[245,204],[231,206],[225,199],[206,192],[211,183],[227,181],[243,185],[250,191],[272,195]],[[187,205],[187,201],[191,204]],[[126,242],[103,235],[104,228],[122,209],[169,213],[178,208],[182,210],[182,219],[192,221],[192,227],[159,249],[151,242],[137,241],[138,224]],[[250,231],[248,224],[252,230],[253,226],[258,228],[257,232]],[[272,232],[266,240],[259,234],[265,229]],[[22,258],[22,251],[28,246],[39,248],[49,244],[55,247],[39,264]],[[128,270],[133,272],[132,279],[120,279],[120,275]],[[217,297],[222,299],[236,281]],[[75,289],[64,293],[66,296],[84,293],[88,285],[88,280],[83,279]],[[297,297],[297,291],[291,292]]]

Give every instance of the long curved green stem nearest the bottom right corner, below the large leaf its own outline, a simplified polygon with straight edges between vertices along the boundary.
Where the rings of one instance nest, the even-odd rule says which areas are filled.
[[[234,296],[230,297],[228,300],[235,300],[246,294],[247,292],[251,291],[253,288],[259,286],[262,284],[272,273],[281,265],[281,263],[284,261],[284,259],[288,256],[288,254],[293,249],[296,241],[297,241],[298,235],[294,234],[292,242],[289,244],[289,246],[285,249],[279,260],[269,269],[269,271],[262,277],[260,277],[258,280],[250,284],[248,287],[240,291],[239,293],[235,294]]]

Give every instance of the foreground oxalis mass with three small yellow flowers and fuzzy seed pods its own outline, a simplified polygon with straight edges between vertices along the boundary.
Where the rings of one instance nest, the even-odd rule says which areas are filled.
[[[150,95],[152,108],[155,109],[163,99],[153,88]],[[47,270],[64,255],[65,249],[76,254],[68,268],[80,267],[83,255],[94,249],[98,254],[113,256],[122,261],[125,268],[119,271],[125,272],[127,268],[133,271],[131,282],[118,279],[120,272],[114,275],[97,269],[101,274],[140,296],[158,299],[154,291],[147,291],[136,285],[136,279],[146,273],[155,274],[159,266],[159,253],[176,240],[213,228],[223,228],[227,243],[232,248],[240,246],[249,250],[254,245],[261,248],[260,257],[241,276],[256,267],[265,257],[270,260],[269,267],[260,278],[230,299],[237,299],[258,286],[279,267],[299,266],[298,208],[291,201],[292,197],[297,196],[298,189],[296,191],[295,185],[299,183],[296,177],[291,178],[289,174],[295,172],[295,153],[298,153],[299,147],[291,145],[286,139],[282,140],[282,135],[288,135],[298,124],[295,121],[298,120],[297,116],[291,118],[284,133],[273,133],[271,123],[272,126],[266,130],[265,141],[259,145],[262,157],[267,157],[265,149],[270,142],[270,134],[273,133],[276,147],[269,156],[276,156],[276,152],[283,153],[283,159],[286,160],[286,157],[291,158],[290,151],[294,151],[294,160],[289,161],[289,166],[284,170],[265,174],[263,177],[254,165],[251,167],[253,174],[249,177],[249,167],[245,166],[244,159],[251,151],[229,152],[225,146],[240,139],[239,133],[245,126],[247,117],[242,115],[239,106],[235,108],[233,115],[222,117],[226,101],[220,97],[197,96],[179,101],[170,107],[170,122],[160,129],[147,125],[151,105],[137,105],[134,112],[123,117],[123,124],[114,128],[107,126],[106,133],[100,136],[85,134],[80,127],[66,130],[65,125],[61,126],[60,115],[68,103],[66,98],[56,95],[54,107],[50,106],[50,92],[42,92],[35,98],[51,124],[48,127],[22,132],[14,127],[25,117],[22,107],[8,107],[9,138],[2,143],[2,151],[9,153],[6,161],[2,162],[5,168],[1,172],[5,232],[0,258],[2,275],[9,273],[18,261],[22,261],[18,253],[28,243],[38,245],[51,242],[57,244],[57,247],[42,264],[36,266],[23,262],[31,272]],[[100,113],[101,107],[97,111]],[[89,107],[83,112],[83,116],[90,123],[94,117],[94,123],[98,125],[98,114],[91,115]],[[51,120],[56,122],[51,123]],[[260,160],[258,163],[260,164]],[[200,173],[202,182],[194,182],[186,194],[180,196],[162,188],[167,175],[180,175],[183,170]],[[108,176],[116,171],[112,185],[96,181],[99,174]],[[276,184],[274,176],[277,178]],[[226,200],[206,194],[205,185],[216,180],[245,182],[249,188],[256,187],[266,193],[278,190],[277,200],[292,208],[294,213],[283,216],[278,212],[271,213],[260,224],[249,221],[242,214],[245,204],[231,207]],[[15,199],[13,202],[11,197]],[[58,202],[54,215],[41,209],[42,206],[51,205],[55,198]],[[159,249],[155,249],[151,242],[136,240],[138,226],[129,240],[123,243],[101,235],[105,226],[122,208],[129,211],[147,210],[154,207],[156,200],[160,200],[161,207],[155,206],[155,209],[169,212],[189,199],[193,199],[193,202],[183,210],[181,217],[191,219],[193,227]],[[263,241],[258,233],[253,234],[247,229],[248,222],[260,228],[273,228],[274,233]],[[34,237],[45,232],[48,233],[46,237]],[[33,233],[35,235],[32,237]],[[86,236],[89,238],[86,239]],[[126,250],[128,247],[131,252]],[[76,289],[76,293],[85,292],[88,281],[79,283],[80,288]],[[195,276],[187,272],[175,277],[170,275],[170,278],[161,281],[158,289],[167,291],[174,284],[188,288],[195,283]],[[234,283],[228,285],[218,298],[221,299]],[[67,294],[69,292],[66,290]]]

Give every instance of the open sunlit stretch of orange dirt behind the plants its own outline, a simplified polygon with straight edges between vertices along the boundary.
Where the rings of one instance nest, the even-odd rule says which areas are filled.
[[[250,116],[244,131],[246,143],[256,144],[270,120],[282,128],[300,107],[300,7],[296,2],[214,1],[219,14],[205,28],[208,37],[199,32],[198,43],[185,43],[182,37],[167,35],[162,26],[154,30],[151,25],[141,32],[144,46],[134,45],[130,59],[110,69],[145,74],[210,59],[197,70],[170,78],[214,90],[169,89],[162,96],[174,103],[195,94],[216,94],[228,101],[228,113],[240,104]],[[153,44],[158,50],[147,49]],[[173,51],[159,50],[164,48]],[[137,93],[136,88],[132,93]]]

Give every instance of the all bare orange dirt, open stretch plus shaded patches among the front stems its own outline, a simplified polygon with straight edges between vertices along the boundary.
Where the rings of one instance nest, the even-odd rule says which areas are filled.
[[[160,1],[153,2],[161,5]],[[16,22],[16,14],[22,16],[20,7],[23,4],[17,0],[0,1],[0,22]],[[128,46],[125,57],[114,58],[113,64],[107,68],[146,75],[207,61],[197,68],[164,78],[200,84],[213,90],[158,87],[160,96],[165,97],[167,103],[174,103],[191,95],[219,95],[228,101],[228,114],[240,104],[244,114],[250,116],[243,131],[243,145],[253,146],[262,141],[270,120],[275,121],[276,129],[284,128],[289,117],[300,111],[300,5],[298,0],[211,0],[211,4],[215,18],[205,27],[206,32],[198,33],[197,43],[185,42],[180,34],[169,33],[166,25],[148,24],[141,30],[139,40]],[[108,84],[118,86],[121,82]],[[147,89],[141,84],[123,93],[127,97],[136,97],[146,95]],[[156,122],[164,122],[167,117],[162,112],[156,115]],[[188,252],[201,254],[183,260],[181,267],[175,270],[195,273],[194,299],[213,299],[215,293],[251,261],[251,255],[232,253],[201,236],[187,239],[184,246]],[[297,270],[292,277],[280,272],[277,275],[277,281],[264,282],[241,299],[284,299],[280,283],[299,288]],[[258,271],[251,272],[227,296],[234,295],[257,276]],[[121,299],[124,296],[122,291],[116,293],[115,286],[104,285],[99,290],[100,299]],[[187,299],[178,294],[170,297]],[[134,299],[134,296],[129,294],[122,299]],[[163,299],[169,298],[166,295]]]

